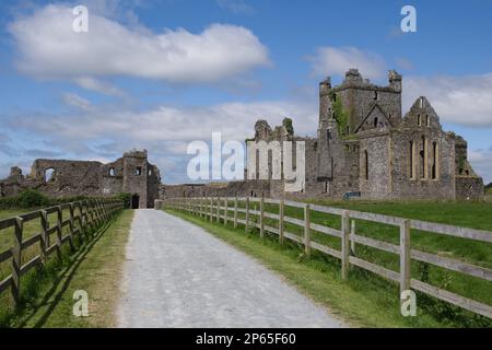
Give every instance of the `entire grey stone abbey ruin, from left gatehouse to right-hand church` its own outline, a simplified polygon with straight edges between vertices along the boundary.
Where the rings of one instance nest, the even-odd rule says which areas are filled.
[[[389,71],[388,83],[374,85],[356,69],[350,69],[338,86],[331,86],[329,78],[323,81],[316,138],[295,136],[289,122],[274,129],[266,120],[256,122],[255,141],[305,142],[306,178],[298,192],[284,192],[282,179],[163,185],[147,151],[132,151],[109,164],[36,160],[28,176],[12,167],[11,175],[0,180],[0,196],[14,196],[24,188],[52,197],[129,192],[133,208],[151,208],[154,200],[172,197],[261,194],[273,198],[482,199],[483,182],[468,162],[467,142],[443,131],[423,96],[403,116],[402,77]]]

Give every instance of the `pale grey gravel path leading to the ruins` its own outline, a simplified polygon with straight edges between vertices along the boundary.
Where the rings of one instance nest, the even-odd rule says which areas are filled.
[[[201,228],[138,210],[119,327],[343,327],[276,273]]]

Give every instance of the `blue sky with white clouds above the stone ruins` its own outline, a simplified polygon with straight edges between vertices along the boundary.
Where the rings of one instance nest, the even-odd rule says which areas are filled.
[[[89,8],[89,33],[70,13]],[[417,9],[417,33],[400,10]],[[36,158],[112,161],[145,148],[187,182],[186,145],[243,140],[255,120],[317,127],[317,85],[352,66],[403,74],[492,182],[492,1],[2,1],[0,177]]]

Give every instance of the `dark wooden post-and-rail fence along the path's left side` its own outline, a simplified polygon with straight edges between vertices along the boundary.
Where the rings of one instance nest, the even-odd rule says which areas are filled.
[[[0,265],[11,260],[11,275],[0,280],[0,294],[10,288],[14,302],[19,303],[22,276],[33,268],[45,266],[48,257],[54,253],[61,258],[63,244],[68,243],[73,250],[75,238],[79,245],[91,240],[94,232],[109,222],[121,209],[124,209],[121,201],[94,199],[65,203],[0,220],[0,235],[8,234],[2,230],[13,228],[14,231],[13,246],[4,252],[0,249]],[[68,218],[66,218],[67,213]],[[56,214],[52,226],[48,220],[49,214]],[[37,232],[24,238],[25,224],[34,220],[39,220]],[[68,228],[66,235],[63,235],[65,228]],[[54,242],[51,236],[55,236]],[[22,253],[35,244],[39,244],[39,254],[30,258],[28,261],[23,261]]]

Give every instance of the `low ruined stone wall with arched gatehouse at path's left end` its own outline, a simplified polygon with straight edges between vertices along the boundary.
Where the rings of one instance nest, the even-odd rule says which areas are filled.
[[[131,151],[109,164],[85,161],[36,160],[31,174],[14,166],[0,180],[0,196],[15,196],[34,188],[50,197],[132,195],[132,207],[152,208],[159,197],[160,171],[148,161],[147,151]]]

